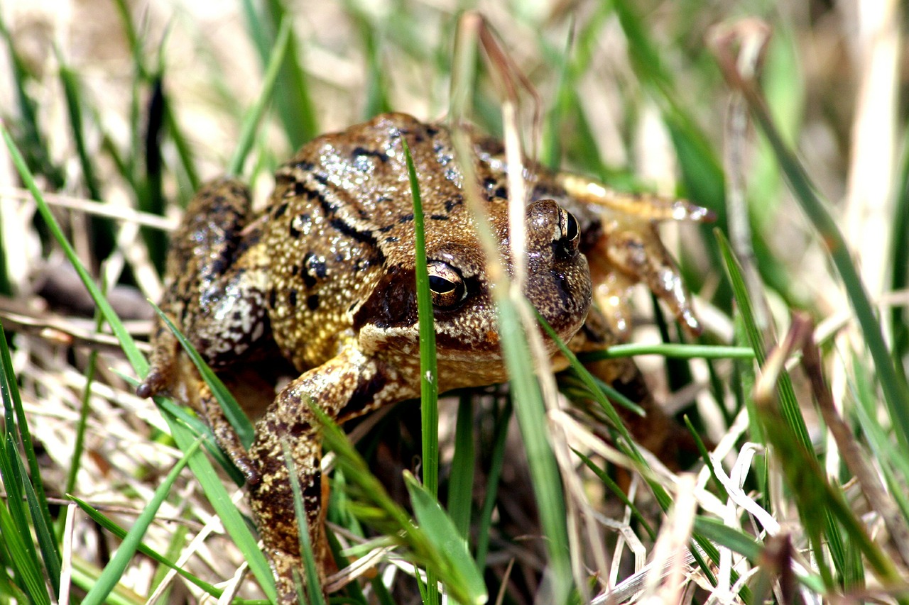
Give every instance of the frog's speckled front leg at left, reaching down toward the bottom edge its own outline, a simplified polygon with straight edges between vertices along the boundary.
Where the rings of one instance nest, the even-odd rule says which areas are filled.
[[[416,382],[416,388],[411,382]],[[300,481],[322,580],[332,564],[322,507],[322,438],[311,406],[344,422],[386,403],[415,397],[418,388],[418,381],[405,380],[395,366],[366,356],[351,337],[335,358],[290,382],[257,422],[249,455],[261,481],[249,486],[249,498],[275,570],[279,602],[297,602],[294,575],[303,569],[285,448]]]

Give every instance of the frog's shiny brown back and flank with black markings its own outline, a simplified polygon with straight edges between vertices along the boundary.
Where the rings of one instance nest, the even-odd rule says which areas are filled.
[[[408,134],[427,240],[474,241],[445,131],[384,114],[306,144],[276,174],[263,243],[275,342],[297,368],[331,358],[355,336],[356,313],[379,281],[413,280],[413,203],[401,134]],[[370,312],[409,318],[408,301]],[[370,318],[371,320],[375,318]]]

